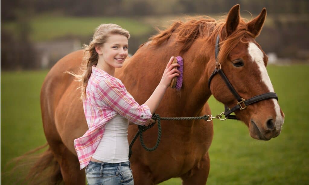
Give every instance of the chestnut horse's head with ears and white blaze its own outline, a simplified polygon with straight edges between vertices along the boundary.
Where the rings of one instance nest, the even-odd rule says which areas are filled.
[[[240,18],[239,5],[232,7],[219,33],[220,50],[217,60],[214,58],[209,63],[212,66],[209,74],[214,68],[221,68],[232,88],[244,100],[267,94],[264,99],[263,96],[259,97],[259,101],[247,106],[245,104],[248,102],[240,102],[235,110],[237,118],[248,125],[251,137],[260,140],[277,137],[284,122],[284,113],[274,97],[276,94],[269,93],[274,92],[274,89],[266,71],[268,57],[255,41],[265,18],[264,8],[259,16],[245,23]],[[239,102],[237,95],[233,95],[233,90],[228,88],[223,79],[222,74],[213,75],[210,90],[218,101],[233,108]],[[242,109],[244,107],[246,108]]]

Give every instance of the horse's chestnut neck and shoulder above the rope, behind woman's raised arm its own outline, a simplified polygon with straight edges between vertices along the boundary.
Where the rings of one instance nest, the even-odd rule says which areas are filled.
[[[208,89],[207,63],[210,55],[205,41],[196,41],[182,57],[184,59],[183,86],[178,92],[168,88],[162,105],[164,112],[173,112],[177,116],[197,115],[211,95]],[[211,48],[211,47],[208,47]],[[175,47],[143,46],[122,69],[116,72],[127,90],[139,103],[144,103],[159,84],[170,56],[179,55]],[[160,107],[159,107],[160,108]]]

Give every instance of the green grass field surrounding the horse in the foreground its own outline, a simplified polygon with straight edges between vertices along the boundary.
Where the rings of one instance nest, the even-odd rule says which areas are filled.
[[[258,141],[239,121],[215,120],[208,184],[309,183],[309,66],[269,65],[267,69],[286,116],[281,134]],[[1,172],[10,159],[46,142],[39,99],[46,74],[1,72]],[[223,111],[223,105],[213,98],[209,103],[213,114]],[[1,183],[11,184],[11,178],[2,174]],[[181,184],[181,180],[161,183],[172,184]]]

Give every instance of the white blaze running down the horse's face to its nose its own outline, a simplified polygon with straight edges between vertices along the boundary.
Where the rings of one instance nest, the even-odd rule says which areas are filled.
[[[259,47],[255,43],[250,42],[248,44],[248,53],[251,56],[252,62],[256,62],[256,64],[259,67],[260,70],[260,76],[261,76],[261,83],[264,83],[266,87],[268,87],[269,92],[274,92],[273,85],[269,79],[264,60],[263,60],[263,52],[260,50]],[[281,126],[284,122],[284,117],[281,115],[280,107],[278,104],[278,101],[276,99],[272,99],[274,103],[274,109],[276,112],[276,120],[274,122],[274,126],[276,127],[276,130],[280,130]]]

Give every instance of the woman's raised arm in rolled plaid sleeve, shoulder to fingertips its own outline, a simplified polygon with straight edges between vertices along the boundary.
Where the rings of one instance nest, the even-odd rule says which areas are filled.
[[[179,66],[179,64],[171,64],[174,57],[171,57],[170,61],[164,70],[162,79],[152,93],[150,98],[143,105],[138,105],[134,98],[126,91],[125,88],[121,88],[114,80],[104,79],[97,88],[97,96],[102,103],[109,106],[121,116],[127,118],[138,125],[148,125],[148,119],[158,108],[160,101],[170,85],[172,78],[179,76],[179,71],[173,69]]]

